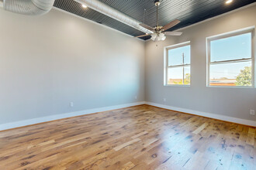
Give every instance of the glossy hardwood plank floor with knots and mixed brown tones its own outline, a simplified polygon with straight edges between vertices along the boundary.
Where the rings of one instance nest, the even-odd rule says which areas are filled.
[[[256,131],[148,105],[0,132],[0,169],[256,169]]]

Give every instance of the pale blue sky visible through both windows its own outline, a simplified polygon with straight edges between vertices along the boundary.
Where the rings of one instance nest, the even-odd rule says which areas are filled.
[[[210,48],[211,62],[251,58],[251,33],[213,40],[210,43]],[[190,63],[190,46],[183,46],[177,49],[168,50],[168,66],[182,64],[182,53],[184,53],[185,56],[184,63]],[[227,77],[228,79],[235,79],[240,73],[240,70],[244,70],[245,66],[251,66],[251,61],[212,65],[210,66],[210,78],[220,79],[222,77]],[[185,73],[189,72],[189,68],[186,67]],[[169,69],[168,78],[182,79],[182,68]]]

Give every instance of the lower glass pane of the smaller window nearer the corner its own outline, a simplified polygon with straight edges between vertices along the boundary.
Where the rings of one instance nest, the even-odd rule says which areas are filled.
[[[183,83],[184,73],[184,83]],[[190,66],[168,68],[168,84],[190,84]]]

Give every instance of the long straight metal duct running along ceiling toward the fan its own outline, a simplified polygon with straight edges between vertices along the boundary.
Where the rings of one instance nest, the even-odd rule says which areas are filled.
[[[99,0],[74,0],[74,1],[82,5],[86,5],[97,12],[101,12],[102,14],[107,15],[112,19],[116,19],[119,22],[123,22],[124,24],[131,26],[134,29],[140,30],[141,32],[153,33],[149,29],[145,29],[144,27],[140,26],[139,24],[141,22],[131,18],[130,16],[124,14],[123,12],[119,12],[115,8],[112,8],[111,6],[106,5],[103,2],[100,2]]]

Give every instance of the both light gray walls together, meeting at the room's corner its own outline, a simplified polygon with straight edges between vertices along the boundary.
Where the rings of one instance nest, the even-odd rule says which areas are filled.
[[[0,8],[0,124],[143,100],[256,121],[255,88],[206,87],[206,37],[255,26],[255,15],[256,5],[145,45],[55,9],[31,17]],[[164,46],[185,41],[192,85],[164,87]]]

